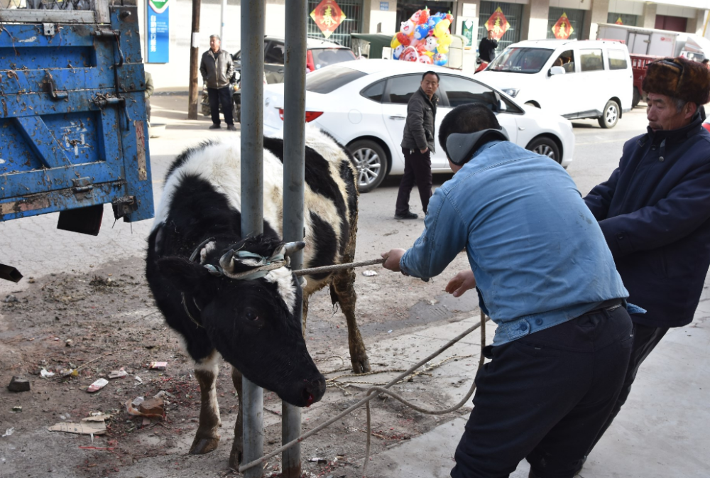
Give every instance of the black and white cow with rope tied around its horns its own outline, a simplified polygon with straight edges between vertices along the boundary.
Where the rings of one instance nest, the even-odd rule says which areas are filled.
[[[355,322],[354,271],[307,276],[301,288],[286,263],[304,244],[281,240],[283,140],[264,138],[264,232],[256,238],[244,239],[241,232],[240,151],[237,138],[207,141],[178,156],[165,178],[146,259],[158,308],[196,363],[202,407],[191,454],[217,447],[219,356],[233,366],[240,408],[232,467],[243,450],[242,374],[295,406],[309,406],[325,391],[302,333],[310,294],[330,286],[346,316],[354,370],[369,371]],[[357,190],[351,158],[313,129],[306,136],[305,183],[304,267],[353,261]],[[302,323],[294,315],[300,306]]]

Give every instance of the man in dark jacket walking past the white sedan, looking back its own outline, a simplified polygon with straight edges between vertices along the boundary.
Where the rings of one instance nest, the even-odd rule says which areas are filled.
[[[437,117],[435,94],[439,88],[439,75],[427,71],[422,75],[420,88],[407,104],[407,121],[404,125],[402,152],[404,153],[404,176],[395,205],[395,219],[417,219],[409,210],[409,195],[415,183],[422,200],[422,209],[427,214],[429,198],[432,197],[432,151],[434,147],[434,124]]]

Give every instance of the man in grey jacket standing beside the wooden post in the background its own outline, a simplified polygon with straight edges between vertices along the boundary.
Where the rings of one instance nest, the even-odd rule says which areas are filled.
[[[209,36],[209,50],[202,53],[200,74],[202,81],[207,83],[207,96],[209,97],[209,111],[212,113],[212,126],[209,129],[219,129],[219,106],[222,105],[226,129],[236,131],[234,119],[231,116],[231,87],[229,79],[234,73],[234,63],[231,55],[219,46],[222,40],[219,35]]]

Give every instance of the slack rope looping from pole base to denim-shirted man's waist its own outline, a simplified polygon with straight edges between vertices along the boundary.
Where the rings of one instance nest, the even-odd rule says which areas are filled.
[[[378,259],[378,261],[380,261]],[[383,261],[383,260],[382,260]],[[354,264],[359,264],[359,263],[353,263],[353,264],[339,264],[339,266],[347,266],[347,267],[356,267]],[[377,263],[375,263],[377,264]],[[367,264],[371,265],[371,264]],[[343,267],[343,268],[347,268]],[[307,270],[307,269],[302,269],[302,270]],[[449,347],[452,347],[452,345],[456,344],[456,342],[459,342],[459,340],[463,339],[466,337],[466,335],[469,335],[471,332],[474,330],[478,329],[480,327],[481,329],[481,357],[479,358],[479,368],[478,370],[481,369],[481,366],[484,363],[484,347],[486,347],[486,320],[489,320],[489,317],[486,317],[486,315],[481,312],[481,322],[477,323],[476,325],[469,327],[468,330],[465,330],[464,332],[461,332],[457,337],[454,337],[454,339],[450,340],[444,347],[441,347],[438,349],[436,352],[431,354],[429,357],[426,357],[425,359],[420,360],[417,364],[413,365],[408,369],[407,371],[403,372],[399,376],[395,377],[391,381],[388,382],[383,387],[379,386],[374,386],[371,389],[368,389],[365,394],[365,398],[362,398],[360,401],[355,403],[353,406],[350,406],[346,410],[342,411],[342,413],[339,413],[338,415],[334,416],[330,420],[328,420],[325,423],[322,423],[322,425],[318,425],[316,428],[313,428],[312,430],[304,433],[300,437],[296,438],[295,440],[291,440],[290,442],[286,443],[280,448],[277,448],[276,450],[273,450],[273,452],[269,453],[268,455],[264,455],[263,457],[259,458],[258,460],[254,460],[253,462],[249,462],[246,465],[241,465],[239,467],[239,472],[244,473],[247,469],[250,469],[252,467],[256,467],[257,465],[261,465],[263,462],[266,462],[266,460],[269,460],[270,458],[275,457],[278,455],[280,452],[283,452],[284,450],[288,450],[290,447],[293,447],[297,443],[302,442],[306,438],[310,438],[312,435],[315,435],[316,433],[320,432],[320,430],[323,430],[324,428],[329,427],[333,423],[337,422],[340,418],[343,418],[345,415],[348,415],[352,411],[355,411],[357,408],[359,408],[361,405],[366,403],[366,411],[367,411],[367,441],[366,441],[366,447],[365,447],[365,462],[362,467],[362,476],[365,477],[365,472],[367,470],[367,462],[369,461],[370,457],[370,435],[371,435],[371,425],[370,425],[370,401],[375,398],[377,395],[374,394],[374,392],[380,392],[380,393],[387,393],[388,395],[392,396],[396,400],[400,401],[401,403],[404,403],[406,406],[409,406],[410,408],[415,409],[416,411],[420,413],[426,413],[427,415],[444,415],[445,413],[451,413],[452,411],[456,411],[462,406],[464,406],[464,403],[469,401],[469,398],[471,398],[471,395],[474,394],[474,391],[476,390],[476,382],[474,381],[473,384],[471,384],[471,388],[469,389],[468,393],[466,393],[466,396],[464,396],[463,400],[461,400],[459,403],[456,405],[452,406],[451,408],[447,408],[445,410],[427,410],[425,408],[420,408],[419,406],[414,405],[413,403],[409,403],[406,401],[404,398],[400,397],[397,393],[394,393],[391,390],[388,390],[391,386],[396,384],[398,381],[403,379],[405,376],[408,376],[411,374],[413,371],[418,369],[420,366],[426,364],[427,362],[430,362],[430,360],[434,359],[435,357],[439,356],[442,354],[446,349]],[[478,370],[476,370],[476,374],[478,374]],[[475,376],[475,375],[474,375]]]

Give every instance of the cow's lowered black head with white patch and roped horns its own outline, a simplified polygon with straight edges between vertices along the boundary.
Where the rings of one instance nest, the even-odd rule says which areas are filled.
[[[309,406],[325,392],[294,314],[302,292],[288,255],[303,246],[261,236],[236,244],[209,240],[190,260],[158,260],[160,272],[182,293],[186,313],[222,357],[295,406]]]

